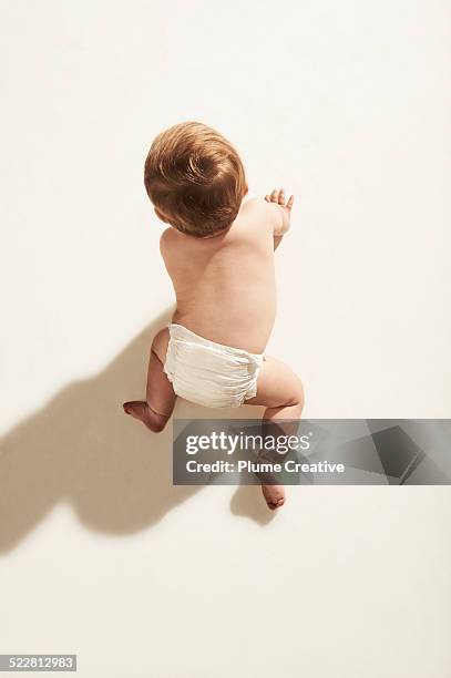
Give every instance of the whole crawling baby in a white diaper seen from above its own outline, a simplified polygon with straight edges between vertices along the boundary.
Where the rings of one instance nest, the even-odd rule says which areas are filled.
[[[176,397],[209,408],[264,405],[264,420],[299,420],[300,379],[264,355],[276,315],[274,250],[287,233],[294,196],[284,189],[244,201],[248,186],[235,147],[216,130],[185,122],[148,152],[144,184],[168,224],[160,248],[176,310],[154,338],[145,401],[127,414],[162,431]],[[270,510],[280,485],[262,483]]]

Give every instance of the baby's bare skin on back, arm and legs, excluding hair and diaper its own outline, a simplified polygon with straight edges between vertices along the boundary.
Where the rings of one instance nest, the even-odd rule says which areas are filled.
[[[289,229],[293,203],[284,189],[245,199],[225,232],[203,238],[166,228],[160,246],[176,297],[172,321],[211,341],[264,353],[276,316],[274,251]],[[168,339],[164,328],[152,343],[146,401],[124,403],[127,414],[154,432],[163,430],[176,400],[163,371]],[[257,393],[245,402],[264,405],[264,420],[274,423],[299,420],[303,383],[288,366],[265,355]],[[263,481],[262,490],[270,510],[285,503],[283,486]]]

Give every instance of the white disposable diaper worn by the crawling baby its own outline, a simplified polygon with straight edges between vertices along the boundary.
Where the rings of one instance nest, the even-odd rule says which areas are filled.
[[[170,325],[164,371],[181,398],[207,408],[239,408],[257,392],[263,355],[248,353]]]

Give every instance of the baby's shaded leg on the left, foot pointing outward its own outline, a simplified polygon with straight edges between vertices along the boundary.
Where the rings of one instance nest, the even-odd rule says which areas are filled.
[[[170,335],[166,328],[160,330],[152,342],[146,400],[132,400],[123,404],[127,414],[142,421],[154,433],[163,431],[174,410],[176,399],[174,389],[163,371],[168,340]]]

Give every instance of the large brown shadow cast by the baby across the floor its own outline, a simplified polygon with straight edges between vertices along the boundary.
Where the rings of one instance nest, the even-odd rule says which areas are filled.
[[[122,410],[123,401],[143,397],[148,348],[168,319],[170,312],[157,318],[102,372],[71,383],[0,439],[0,553],[61,501],[91,530],[119,535],[151,527],[202,490],[172,484],[171,423],[154,434]],[[259,415],[257,408],[242,410],[239,417]],[[185,419],[212,414],[186,401],[175,412]],[[221,417],[236,418],[237,410]],[[271,514],[262,497],[254,505],[255,490],[238,487],[230,510],[264,525]]]

